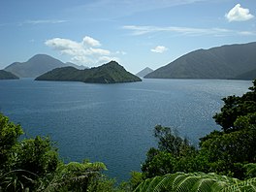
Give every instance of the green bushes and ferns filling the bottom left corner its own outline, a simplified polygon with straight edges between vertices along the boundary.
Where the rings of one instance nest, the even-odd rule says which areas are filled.
[[[113,187],[103,163],[64,164],[48,137],[18,141],[19,125],[0,114],[0,191],[104,191]]]

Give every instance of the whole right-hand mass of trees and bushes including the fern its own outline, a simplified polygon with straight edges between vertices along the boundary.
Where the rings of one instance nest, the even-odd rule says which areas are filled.
[[[256,191],[256,80],[249,89],[241,97],[223,99],[221,112],[213,116],[222,130],[201,138],[199,148],[157,125],[158,147],[148,150],[144,182],[136,191]],[[224,183],[219,175],[246,180],[230,177]]]

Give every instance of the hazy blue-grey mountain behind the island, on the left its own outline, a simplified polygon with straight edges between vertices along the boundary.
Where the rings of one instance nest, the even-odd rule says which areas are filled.
[[[5,68],[5,71],[12,72],[19,78],[36,78],[46,72],[71,65],[63,63],[47,54],[36,54],[26,62],[15,62]],[[72,63],[73,66],[76,66]]]

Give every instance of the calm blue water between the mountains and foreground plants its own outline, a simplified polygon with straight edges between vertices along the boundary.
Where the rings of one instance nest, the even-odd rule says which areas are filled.
[[[26,137],[50,136],[65,161],[101,161],[107,175],[127,179],[155,146],[156,124],[194,144],[213,129],[221,98],[241,95],[246,80],[143,80],[134,83],[0,80],[0,111]]]

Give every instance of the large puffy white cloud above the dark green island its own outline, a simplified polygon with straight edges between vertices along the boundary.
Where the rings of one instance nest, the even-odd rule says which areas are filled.
[[[53,38],[47,40],[45,44],[49,48],[60,51],[62,54],[71,56],[71,60],[83,65],[98,65],[99,62],[118,60],[112,57],[112,52],[108,49],[93,48],[101,46],[98,40],[85,36],[81,42],[69,39]]]

